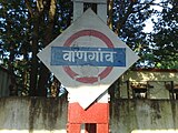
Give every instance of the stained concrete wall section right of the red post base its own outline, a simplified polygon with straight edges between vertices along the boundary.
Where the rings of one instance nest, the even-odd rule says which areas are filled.
[[[178,101],[115,100],[111,133],[178,133]]]

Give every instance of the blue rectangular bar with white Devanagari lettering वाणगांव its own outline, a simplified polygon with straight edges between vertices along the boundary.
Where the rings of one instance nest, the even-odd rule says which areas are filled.
[[[51,47],[51,65],[126,66],[126,48]]]

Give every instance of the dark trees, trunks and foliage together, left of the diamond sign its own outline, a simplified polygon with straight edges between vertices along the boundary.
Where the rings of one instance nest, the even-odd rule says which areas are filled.
[[[30,95],[47,93],[49,71],[39,63],[37,53],[69,24],[70,8],[66,10],[69,3],[56,0],[3,0],[0,3],[1,62],[19,75],[20,90],[29,91]]]

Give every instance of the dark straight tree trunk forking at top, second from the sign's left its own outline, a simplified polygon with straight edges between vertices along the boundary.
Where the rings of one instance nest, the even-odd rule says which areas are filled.
[[[40,0],[41,1],[41,0]],[[29,95],[36,96],[37,95],[37,76],[38,76],[38,43],[39,43],[39,27],[40,27],[40,18],[41,18],[41,7],[39,7],[40,3],[39,0],[37,0],[37,6],[33,7],[31,1],[24,0],[26,7],[28,8],[28,11],[30,13],[30,18],[32,19],[32,45],[31,45],[31,52],[32,52],[32,59],[30,64],[30,89],[29,89]]]

